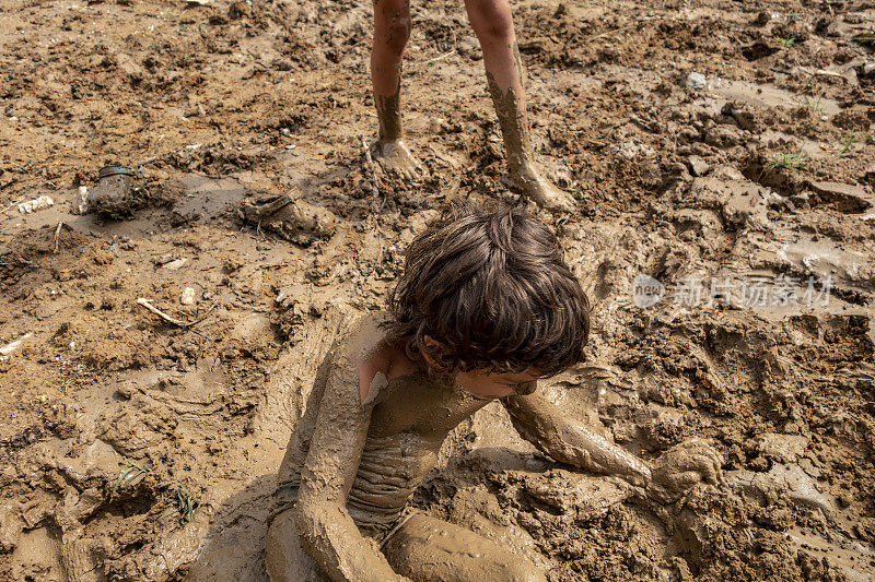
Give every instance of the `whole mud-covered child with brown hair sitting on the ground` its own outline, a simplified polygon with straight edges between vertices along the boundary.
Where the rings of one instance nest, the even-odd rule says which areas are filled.
[[[583,358],[590,306],[553,234],[520,210],[454,211],[420,235],[387,313],[340,337],[279,472],[273,582],[545,581],[527,559],[407,507],[447,433],[499,400],[552,459],[657,499],[721,480],[701,441],[649,466],[552,404],[537,380]]]

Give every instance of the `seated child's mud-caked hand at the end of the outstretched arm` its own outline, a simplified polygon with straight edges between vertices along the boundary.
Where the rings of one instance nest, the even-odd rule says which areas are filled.
[[[665,451],[652,471],[650,496],[663,503],[680,499],[699,483],[725,485],[723,458],[701,439],[690,439]]]

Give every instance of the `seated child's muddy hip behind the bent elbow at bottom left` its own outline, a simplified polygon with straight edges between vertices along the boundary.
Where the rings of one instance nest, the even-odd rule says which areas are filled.
[[[292,510],[273,518],[267,531],[265,566],[270,582],[327,582],[318,565],[304,554]]]

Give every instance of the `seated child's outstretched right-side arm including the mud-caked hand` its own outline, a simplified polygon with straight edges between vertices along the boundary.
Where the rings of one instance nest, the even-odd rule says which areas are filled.
[[[662,500],[682,494],[696,483],[721,483],[720,454],[702,441],[681,443],[651,468],[644,461],[602,437],[578,418],[570,418],[541,391],[503,399],[520,435],[560,463],[595,473],[619,475],[646,487]]]

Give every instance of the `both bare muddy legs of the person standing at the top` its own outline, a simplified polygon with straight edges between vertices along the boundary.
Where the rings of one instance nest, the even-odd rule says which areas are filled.
[[[523,91],[523,63],[509,0],[465,0],[465,9],[483,51],[489,93],[504,136],[511,182],[548,210],[572,210],[571,195],[550,182],[534,161]],[[410,27],[410,0],[374,0],[371,81],[380,136],[372,150],[388,173],[408,179],[421,171],[419,162],[404,143],[401,131],[401,55]]]

